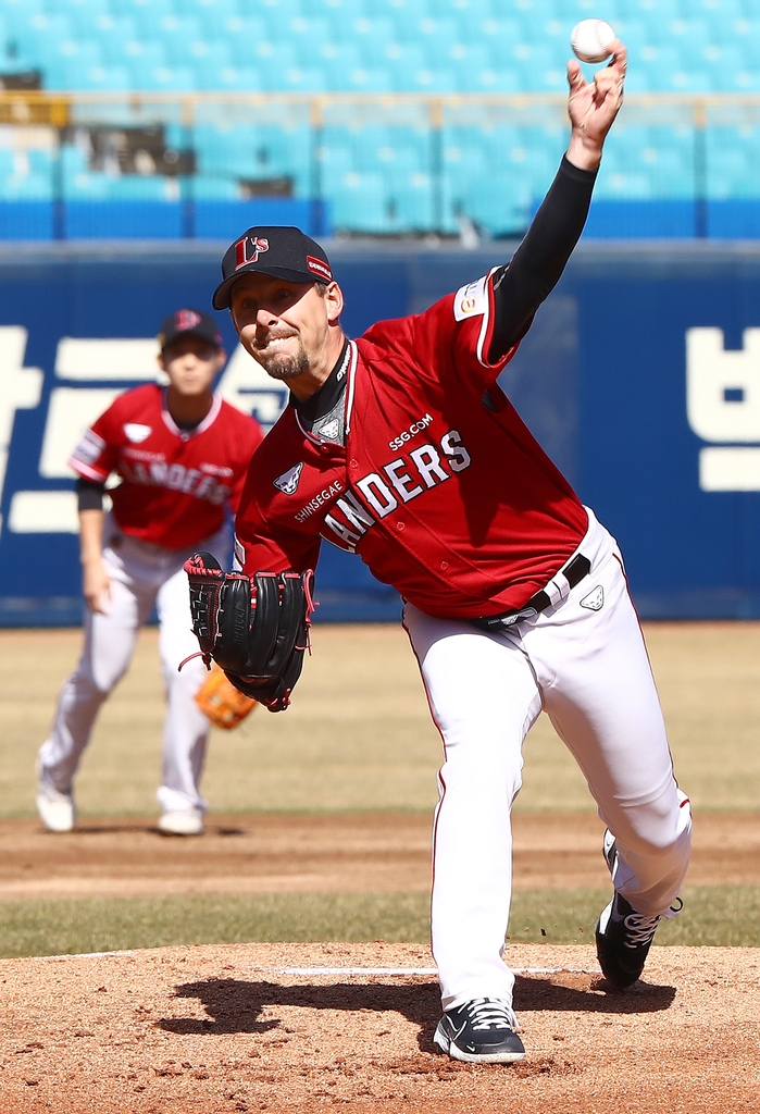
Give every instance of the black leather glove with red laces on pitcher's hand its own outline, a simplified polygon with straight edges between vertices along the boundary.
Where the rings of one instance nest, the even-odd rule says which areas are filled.
[[[185,563],[185,571],[206,667],[214,659],[244,695],[270,712],[284,711],[308,647],[312,569],[248,577],[224,573],[216,557],[200,553]]]

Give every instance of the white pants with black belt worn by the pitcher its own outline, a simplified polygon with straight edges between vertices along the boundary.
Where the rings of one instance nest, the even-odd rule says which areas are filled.
[[[433,843],[432,942],[444,1009],[512,1000],[502,960],[512,889],[510,811],[522,744],[544,710],[618,839],[613,878],[633,908],[668,913],[689,862],[691,813],[614,539],[590,512],[591,573],[499,634],[406,604],[404,625],[445,761]],[[566,590],[566,584],[565,584]]]

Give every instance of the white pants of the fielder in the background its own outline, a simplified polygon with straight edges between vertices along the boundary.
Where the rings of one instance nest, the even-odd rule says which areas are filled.
[[[207,801],[199,784],[210,724],[194,697],[206,668],[195,658],[181,673],[177,671],[179,663],[198,649],[182,565],[196,549],[206,549],[228,568],[229,531],[224,529],[193,549],[176,551],[120,534],[109,517],[103,543],[103,563],[111,578],[110,604],[105,615],[87,609],[82,655],[61,690],[50,737],[40,749],[40,776],[60,792],[70,791],[100,705],[127,672],[139,628],[155,604],[167,698],[158,802],[164,811],[204,811]]]

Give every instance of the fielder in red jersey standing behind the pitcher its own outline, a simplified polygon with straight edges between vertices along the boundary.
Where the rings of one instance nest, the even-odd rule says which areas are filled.
[[[49,739],[38,758],[37,810],[50,831],[76,821],[72,783],[100,705],[126,672],[138,629],[158,610],[167,713],[158,801],[160,831],[197,836],[207,802],[200,776],[209,721],[195,703],[205,670],[193,661],[182,564],[204,545],[228,567],[228,507],[237,507],[254,449],[255,419],[214,392],[226,362],[214,320],[178,310],[164,322],[158,364],[167,387],[126,391],[89,429],[71,456],[78,473],[85,646],[63,685]],[[120,485],[103,511],[111,472]]]

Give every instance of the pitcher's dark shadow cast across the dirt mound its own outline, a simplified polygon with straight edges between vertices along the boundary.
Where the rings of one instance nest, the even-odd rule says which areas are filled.
[[[602,995],[605,984],[598,976],[586,976],[588,986],[566,987],[546,979],[517,977],[517,1013],[531,1010],[650,1014],[668,1009],[675,997],[672,986],[639,983],[626,994]],[[594,993],[596,990],[596,993]],[[177,998],[197,998],[208,1017],[164,1017],[156,1022],[168,1033],[219,1036],[231,1033],[266,1033],[282,1023],[260,1019],[263,1009],[298,1006],[303,1009],[343,1009],[348,1013],[398,1013],[420,1027],[420,1047],[433,1052],[433,1033],[441,1016],[438,987],[434,983],[389,986],[383,983],[338,983],[332,986],[279,986],[276,983],[248,983],[241,979],[207,979],[185,983],[176,989]]]

